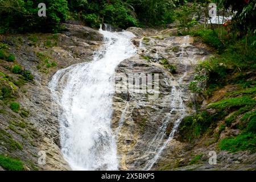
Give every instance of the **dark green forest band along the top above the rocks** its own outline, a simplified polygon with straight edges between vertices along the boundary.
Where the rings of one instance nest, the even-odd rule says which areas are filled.
[[[105,22],[116,27],[131,26],[166,26],[179,20],[181,27],[193,27],[202,12],[201,7],[208,7],[210,2],[217,3],[218,8],[232,6],[237,11],[233,28],[239,28],[240,34],[255,30],[255,0],[250,2],[228,0],[45,0],[46,17],[39,17],[38,7],[42,1],[36,0],[1,0],[0,33],[10,30],[50,31],[61,30],[60,23],[65,20],[81,20],[87,25],[98,27]],[[187,2],[193,2],[187,6]],[[1,54],[0,54],[1,55]]]

